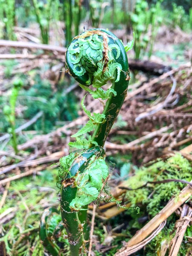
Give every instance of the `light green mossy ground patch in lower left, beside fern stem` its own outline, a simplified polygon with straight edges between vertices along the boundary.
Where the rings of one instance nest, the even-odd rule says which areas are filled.
[[[52,182],[38,175],[35,178],[32,176],[24,177],[12,181],[10,184],[6,204],[0,209],[0,214],[7,209],[13,209],[11,214],[14,215],[14,218],[3,223],[0,231],[0,241],[5,242],[6,252],[9,255],[44,255],[44,247],[38,234],[39,220],[41,212],[44,210],[43,201],[44,198],[47,198],[46,203],[55,204],[57,200],[55,191],[57,170],[49,169],[47,172],[51,173]],[[49,190],[43,189],[45,187]],[[2,195],[0,195],[1,199]],[[16,201],[17,204],[15,204]],[[67,241],[65,241],[65,244],[68,244]]]

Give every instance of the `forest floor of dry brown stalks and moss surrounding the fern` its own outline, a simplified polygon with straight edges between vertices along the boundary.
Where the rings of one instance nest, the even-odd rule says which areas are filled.
[[[36,29],[31,30],[16,28],[19,41],[38,44]],[[87,121],[78,103],[84,92],[64,72],[64,48],[63,52],[54,47],[43,51],[31,46],[18,47],[17,41],[15,44],[13,49],[3,47],[0,42],[2,106],[8,101],[15,77],[24,74],[25,80],[16,108],[18,154],[13,151],[10,134],[0,134],[0,250],[5,248],[10,256],[49,255],[38,236],[39,223],[44,209],[59,206],[55,185],[58,161],[69,154],[70,136]],[[192,35],[179,28],[162,27],[150,61],[171,67],[169,71],[160,76],[140,71],[131,73],[128,95],[105,143],[111,170],[110,191],[130,209],[118,208],[113,202],[101,202],[97,209],[90,205],[90,221],[96,213],[91,255],[112,256],[122,248],[122,253],[129,250],[135,256],[165,256],[176,242],[181,244],[180,251],[174,254],[170,249],[169,256],[192,255],[192,227],[190,221],[184,222],[186,216],[192,215],[192,192],[190,184],[182,183],[192,180],[191,49]],[[133,58],[133,52],[128,58]],[[58,111],[57,104],[64,105],[64,110],[59,111],[66,119],[56,120],[52,125],[50,111],[52,108],[53,112]],[[102,111],[101,102],[89,95],[85,104],[90,111]],[[2,109],[0,115],[5,123]],[[152,183],[170,179],[172,183]],[[145,184],[148,181],[151,184]],[[138,190],[126,189],[143,185]],[[187,186],[188,204],[183,204],[186,200],[180,202],[180,198],[176,200],[180,202],[178,205],[173,199],[170,201],[180,197],[180,193],[186,195],[186,191],[181,191]],[[140,207],[139,213],[136,207]],[[142,231],[138,233],[137,243],[125,243],[163,207],[172,212],[166,208],[170,214],[158,225],[151,223],[151,236],[143,235]],[[179,218],[186,226],[184,231],[177,225]],[[182,232],[184,237],[177,236]],[[65,255],[70,255],[67,239],[60,242],[65,244]],[[118,251],[116,255],[125,254]]]

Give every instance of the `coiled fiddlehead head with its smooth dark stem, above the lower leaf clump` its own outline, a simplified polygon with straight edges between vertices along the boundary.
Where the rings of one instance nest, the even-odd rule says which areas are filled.
[[[97,123],[92,137],[103,146],[127,93],[129,72],[125,48],[112,32],[91,29],[73,39],[66,52],[66,64],[68,72],[85,90],[85,86],[92,84],[98,94],[103,92],[101,87],[107,81],[113,82],[102,113],[105,123]]]

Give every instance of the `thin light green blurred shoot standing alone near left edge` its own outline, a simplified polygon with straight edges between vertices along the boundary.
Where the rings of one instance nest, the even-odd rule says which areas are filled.
[[[17,97],[21,87],[23,86],[23,81],[17,79],[14,81],[12,94],[9,99],[9,105],[5,105],[3,108],[4,115],[7,116],[7,119],[10,123],[10,128],[8,129],[9,133],[12,134],[12,144],[15,150],[15,153],[18,153],[17,149],[17,137],[15,134],[15,106],[17,102]]]

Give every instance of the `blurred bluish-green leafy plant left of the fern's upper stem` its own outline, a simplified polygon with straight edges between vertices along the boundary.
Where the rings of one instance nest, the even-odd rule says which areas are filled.
[[[43,116],[37,120],[29,129],[40,130],[49,133],[57,121],[71,121],[78,117],[76,95],[71,92],[63,94],[66,84],[61,83],[58,90],[53,93],[51,84],[47,80],[42,80],[39,75],[35,75],[34,85],[28,90],[22,90],[18,100],[27,105],[23,118],[31,119],[39,111],[43,111]]]

